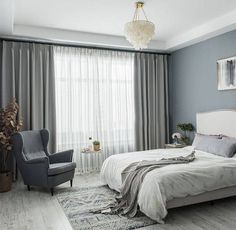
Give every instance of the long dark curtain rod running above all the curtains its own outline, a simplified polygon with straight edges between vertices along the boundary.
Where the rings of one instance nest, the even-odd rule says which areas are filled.
[[[27,37],[4,37],[0,36],[0,40],[5,41],[12,41],[12,42],[27,42],[27,43],[37,43],[37,44],[44,44],[44,45],[57,45],[57,46],[66,46],[66,47],[77,47],[77,48],[88,48],[88,49],[98,49],[98,50],[110,50],[110,51],[120,51],[120,52],[130,52],[130,53],[148,53],[148,54],[159,54],[159,55],[171,55],[170,53],[162,53],[162,52],[155,52],[155,51],[139,51],[139,50],[130,50],[130,49],[123,49],[123,48],[112,48],[106,46],[90,46],[90,45],[82,45],[82,44],[75,44],[75,43],[63,43],[63,42],[56,42],[56,41],[48,41],[48,40],[40,40],[35,38],[27,38]]]

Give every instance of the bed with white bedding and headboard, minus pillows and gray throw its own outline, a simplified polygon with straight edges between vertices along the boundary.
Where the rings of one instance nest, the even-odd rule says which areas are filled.
[[[197,132],[223,134],[236,138],[236,110],[219,110],[196,115]],[[188,155],[192,146],[182,149],[155,149],[113,155],[105,160],[101,179],[119,191],[122,171],[141,160]],[[189,164],[168,165],[149,172],[138,195],[140,210],[163,223],[167,209],[236,195],[236,156],[225,158],[196,150],[196,160]]]

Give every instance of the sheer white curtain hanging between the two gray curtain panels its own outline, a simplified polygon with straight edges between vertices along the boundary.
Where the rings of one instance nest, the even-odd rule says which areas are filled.
[[[80,150],[89,137],[105,156],[134,150],[134,55],[54,47],[57,149]],[[101,162],[98,162],[101,164]]]

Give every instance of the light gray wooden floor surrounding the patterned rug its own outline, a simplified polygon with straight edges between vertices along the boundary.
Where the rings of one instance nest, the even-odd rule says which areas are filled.
[[[76,175],[74,186],[100,185],[99,174]],[[69,182],[61,185],[69,186]],[[12,191],[0,193],[1,230],[71,230],[56,196],[33,188],[28,192],[21,181]],[[142,230],[235,230],[236,197],[210,203],[169,210],[166,224],[152,225]]]

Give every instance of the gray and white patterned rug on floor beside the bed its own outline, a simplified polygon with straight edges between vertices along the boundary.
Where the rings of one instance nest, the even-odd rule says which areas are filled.
[[[116,193],[107,186],[99,186],[62,191],[57,194],[57,199],[74,230],[131,230],[155,224],[143,214],[127,218],[90,212],[114,202],[115,195]]]

